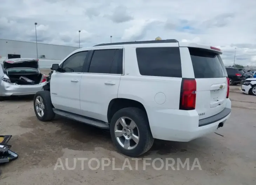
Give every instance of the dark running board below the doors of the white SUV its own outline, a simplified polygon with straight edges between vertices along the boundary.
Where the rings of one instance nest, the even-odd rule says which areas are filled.
[[[79,121],[81,123],[92,125],[92,126],[95,126],[95,127],[98,127],[98,128],[109,129],[108,123],[105,123],[104,121],[96,121],[96,120],[88,119],[88,118],[85,118],[85,117],[80,116],[78,114],[74,114],[74,113],[70,113],[70,112],[66,112],[66,111],[62,111],[62,110],[54,109],[54,108],[53,108],[53,112],[55,114],[58,114],[59,116],[63,116],[63,117],[68,118],[68,119]]]

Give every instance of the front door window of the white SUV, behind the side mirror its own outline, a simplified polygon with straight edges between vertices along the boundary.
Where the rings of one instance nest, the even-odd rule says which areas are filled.
[[[85,63],[87,53],[88,51],[82,51],[71,55],[61,64],[61,72],[83,72],[83,64]]]

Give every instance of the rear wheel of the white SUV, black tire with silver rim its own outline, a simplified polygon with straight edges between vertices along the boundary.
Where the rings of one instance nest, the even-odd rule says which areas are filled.
[[[110,122],[110,134],[115,147],[130,157],[146,153],[154,143],[147,114],[139,108],[117,111]]]

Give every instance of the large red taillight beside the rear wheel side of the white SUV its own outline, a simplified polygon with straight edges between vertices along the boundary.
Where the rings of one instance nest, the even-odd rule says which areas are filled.
[[[180,110],[194,110],[196,107],[196,80],[182,79]]]

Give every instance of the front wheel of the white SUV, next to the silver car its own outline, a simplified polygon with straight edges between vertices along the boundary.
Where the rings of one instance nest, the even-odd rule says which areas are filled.
[[[50,91],[42,90],[34,96],[34,111],[40,121],[50,121],[55,117],[50,98]]]

